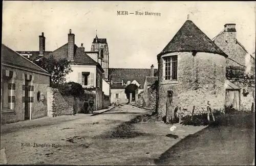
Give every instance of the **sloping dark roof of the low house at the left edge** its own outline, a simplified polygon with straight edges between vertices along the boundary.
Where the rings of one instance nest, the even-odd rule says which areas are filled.
[[[17,66],[17,67],[23,67],[31,69],[32,71],[38,71],[47,73],[48,72],[41,67],[37,66],[27,58],[23,57],[22,55],[19,55],[15,51],[8,48],[6,45],[2,44],[2,52],[1,52],[1,60],[2,63]]]

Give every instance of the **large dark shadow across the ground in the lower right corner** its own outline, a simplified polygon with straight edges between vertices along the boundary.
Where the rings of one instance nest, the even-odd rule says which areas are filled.
[[[247,122],[246,122],[247,121]],[[254,158],[252,117],[208,126],[188,135],[154,160],[157,165],[244,165]]]

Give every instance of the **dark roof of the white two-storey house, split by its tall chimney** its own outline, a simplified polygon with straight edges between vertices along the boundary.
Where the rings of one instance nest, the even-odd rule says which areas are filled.
[[[68,43],[62,45],[60,48],[56,49],[55,51],[44,57],[48,58],[51,55],[56,59],[68,58]],[[89,55],[84,53],[80,48],[78,48],[77,45],[74,45],[74,63],[97,65],[102,70],[102,72],[104,71],[98,62],[96,62]]]

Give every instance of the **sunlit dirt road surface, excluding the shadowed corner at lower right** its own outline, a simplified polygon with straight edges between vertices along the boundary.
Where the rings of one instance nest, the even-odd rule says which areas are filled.
[[[132,121],[146,113],[124,105],[96,116],[66,117],[70,120],[59,123],[38,120],[45,125],[5,130],[1,149],[5,148],[8,164],[155,165],[154,159],[181,138],[204,128],[178,127],[173,133],[178,138],[167,137],[169,125]]]

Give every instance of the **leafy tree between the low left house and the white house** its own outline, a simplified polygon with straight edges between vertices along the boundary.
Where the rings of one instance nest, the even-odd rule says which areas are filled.
[[[65,83],[66,76],[73,72],[67,59],[56,60],[53,56],[50,56],[49,58],[43,57],[39,61],[34,61],[34,63],[51,74],[52,83]]]

